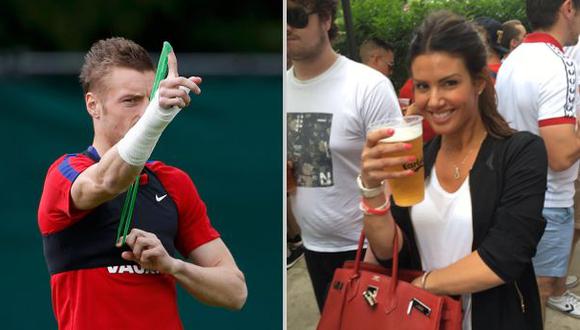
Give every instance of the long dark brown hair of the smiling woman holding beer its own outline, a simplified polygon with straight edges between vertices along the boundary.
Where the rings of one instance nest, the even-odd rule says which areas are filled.
[[[497,111],[495,88],[487,68],[487,53],[474,24],[449,11],[432,13],[415,31],[409,47],[409,66],[417,56],[432,52],[460,57],[472,80],[485,80],[485,89],[478,102],[483,125],[493,137],[512,135],[514,130]]]

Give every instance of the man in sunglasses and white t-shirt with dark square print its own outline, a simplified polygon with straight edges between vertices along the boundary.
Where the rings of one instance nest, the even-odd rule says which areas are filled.
[[[356,177],[367,127],[400,117],[390,81],[338,55],[336,0],[288,1],[288,160],[295,193],[291,211],[302,233],[305,259],[322,310],[334,270],[354,259],[362,230]]]

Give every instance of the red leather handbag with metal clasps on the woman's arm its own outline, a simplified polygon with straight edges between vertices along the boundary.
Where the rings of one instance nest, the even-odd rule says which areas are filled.
[[[356,258],[335,271],[318,330],[461,330],[461,301],[411,284],[420,271],[399,270],[397,231],[391,270]],[[391,276],[389,276],[391,275]]]

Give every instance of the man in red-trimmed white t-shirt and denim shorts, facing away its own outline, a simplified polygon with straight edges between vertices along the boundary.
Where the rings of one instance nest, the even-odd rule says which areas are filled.
[[[501,66],[500,113],[518,130],[540,135],[548,152],[547,226],[533,258],[542,306],[580,317],[580,298],[565,289],[573,234],[574,180],[580,136],[575,131],[576,67],[563,54],[580,33],[580,0],[527,0],[529,34]],[[544,311],[544,309],[542,309]]]

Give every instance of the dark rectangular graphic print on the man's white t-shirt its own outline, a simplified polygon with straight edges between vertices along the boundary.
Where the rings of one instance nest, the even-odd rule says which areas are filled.
[[[299,187],[334,185],[330,155],[331,113],[288,114],[288,160]]]

